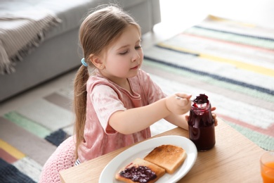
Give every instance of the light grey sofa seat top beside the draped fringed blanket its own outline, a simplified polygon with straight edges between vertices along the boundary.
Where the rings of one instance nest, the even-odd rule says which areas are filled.
[[[118,2],[123,8],[129,8],[143,1],[145,0],[1,0],[0,11],[30,11],[34,9],[51,11],[62,20],[62,23],[46,33],[46,39],[49,39],[78,28],[84,16],[99,4]]]

